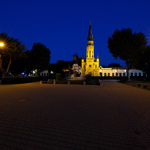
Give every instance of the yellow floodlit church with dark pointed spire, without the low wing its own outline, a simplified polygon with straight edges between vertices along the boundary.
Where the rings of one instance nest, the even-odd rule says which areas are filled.
[[[99,76],[99,57],[97,57],[97,59],[94,57],[94,40],[91,23],[89,25],[89,33],[87,37],[86,59],[84,60],[84,58],[82,58],[81,64],[81,76],[85,76],[87,74]]]

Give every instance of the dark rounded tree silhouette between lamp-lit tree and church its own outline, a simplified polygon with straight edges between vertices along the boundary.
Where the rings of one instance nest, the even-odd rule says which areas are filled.
[[[48,69],[51,51],[42,43],[34,43],[30,51],[30,63],[32,69],[41,72]]]

